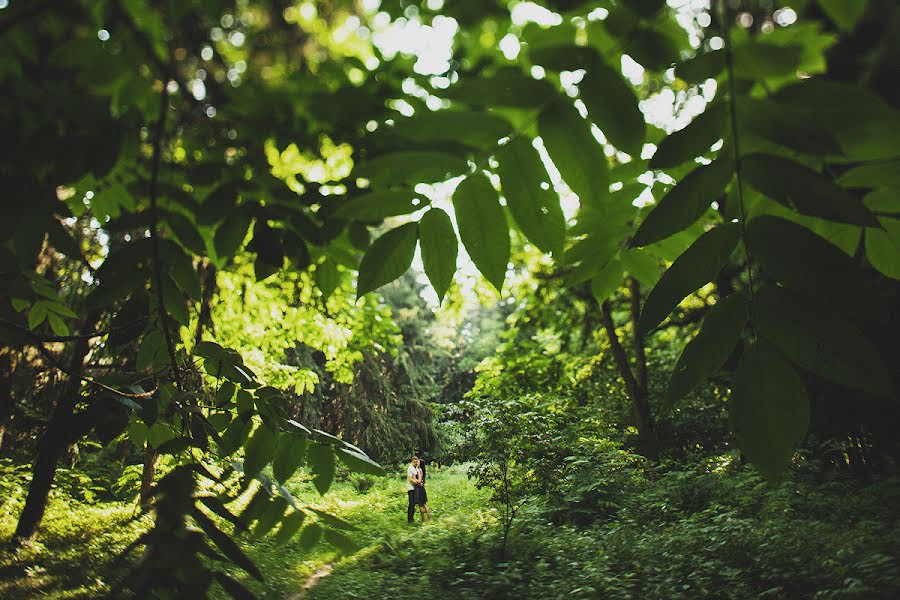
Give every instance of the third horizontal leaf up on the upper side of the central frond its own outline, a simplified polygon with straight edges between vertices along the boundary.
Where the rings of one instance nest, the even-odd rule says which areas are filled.
[[[492,113],[468,110],[418,111],[394,126],[402,138],[414,142],[450,142],[473,148],[492,149],[510,135],[512,125]]]

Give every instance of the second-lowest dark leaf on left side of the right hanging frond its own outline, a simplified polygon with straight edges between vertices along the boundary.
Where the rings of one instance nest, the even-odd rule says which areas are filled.
[[[715,279],[740,239],[740,228],[727,223],[710,229],[675,259],[644,303],[638,330],[646,334],[662,323],[684,298]]]

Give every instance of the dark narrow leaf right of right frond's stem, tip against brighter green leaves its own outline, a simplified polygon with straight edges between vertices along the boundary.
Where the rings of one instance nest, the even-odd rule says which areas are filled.
[[[851,225],[877,225],[872,213],[829,177],[787,158],[751,154],[741,160],[747,183],[802,215]]]

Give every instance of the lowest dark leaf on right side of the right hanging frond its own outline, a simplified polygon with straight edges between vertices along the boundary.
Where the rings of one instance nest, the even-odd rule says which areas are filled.
[[[878,350],[849,321],[782,288],[757,293],[753,317],[760,335],[808,371],[876,396],[893,393]]]

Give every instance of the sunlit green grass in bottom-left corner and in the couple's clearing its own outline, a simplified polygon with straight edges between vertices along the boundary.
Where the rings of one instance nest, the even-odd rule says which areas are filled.
[[[260,567],[265,581],[257,582],[237,570],[232,575],[261,598],[285,598],[299,592],[325,565],[333,565],[333,576],[340,576],[383,548],[409,546],[413,536],[434,540],[493,519],[492,511],[473,510],[486,506],[486,502],[461,467],[429,473],[429,505],[434,521],[424,526],[418,523],[418,515],[416,525],[406,523],[406,484],[401,473],[371,478],[371,482],[372,486],[362,493],[351,481],[338,482],[325,496],[320,496],[309,481],[297,478],[289,484],[301,503],[339,516],[358,528],[352,532],[358,547],[355,552],[341,553],[325,541],[304,550],[298,537],[278,545],[271,537],[242,536],[241,545]],[[0,539],[9,539],[15,530],[21,501],[20,493],[0,505]],[[113,565],[115,556],[150,524],[150,517],[141,516],[133,503],[87,504],[55,492],[38,542],[17,551],[0,547],[0,598],[62,600],[102,595],[118,575]],[[225,594],[216,590],[214,596],[224,598]]]

